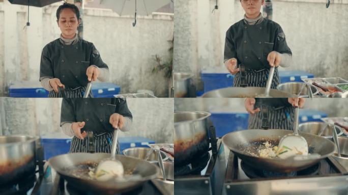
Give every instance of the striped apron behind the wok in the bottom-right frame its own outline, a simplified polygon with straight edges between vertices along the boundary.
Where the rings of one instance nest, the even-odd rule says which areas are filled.
[[[268,122],[270,129],[294,129],[294,108],[267,106]],[[261,129],[263,113],[249,115],[248,129]]]

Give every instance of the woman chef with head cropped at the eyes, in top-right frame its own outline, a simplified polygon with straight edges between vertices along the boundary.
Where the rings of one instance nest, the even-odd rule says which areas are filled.
[[[279,84],[277,67],[288,67],[292,52],[280,25],[260,13],[265,0],[241,0],[244,19],[226,31],[224,63],[236,75],[234,86],[241,84],[240,64],[245,67],[247,86],[266,87],[270,67],[276,67],[271,88]]]

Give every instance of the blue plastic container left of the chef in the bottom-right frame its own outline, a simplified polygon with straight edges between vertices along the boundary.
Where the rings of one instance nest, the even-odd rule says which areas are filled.
[[[233,108],[214,108],[210,120],[215,126],[216,136],[221,138],[227,133],[248,129],[249,114],[245,110]]]

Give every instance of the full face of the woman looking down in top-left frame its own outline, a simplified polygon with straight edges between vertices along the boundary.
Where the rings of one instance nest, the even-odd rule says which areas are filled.
[[[76,14],[70,8],[65,8],[61,11],[58,20],[58,26],[61,28],[62,36],[66,39],[74,38],[77,26],[80,24]]]

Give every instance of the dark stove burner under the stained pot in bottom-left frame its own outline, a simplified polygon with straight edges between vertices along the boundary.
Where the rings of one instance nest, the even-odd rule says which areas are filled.
[[[0,186],[0,194],[26,194],[28,190],[33,188],[37,178],[35,174],[31,174],[21,180],[16,180],[11,183]]]

